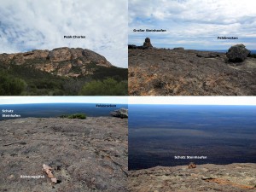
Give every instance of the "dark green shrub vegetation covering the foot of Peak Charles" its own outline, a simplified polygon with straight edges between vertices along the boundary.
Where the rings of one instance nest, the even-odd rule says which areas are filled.
[[[127,95],[127,68],[102,67],[91,62],[86,69],[92,74],[77,78],[58,76],[35,68],[41,60],[27,60],[22,65],[15,61],[0,61],[1,96],[125,96]],[[63,63],[65,62],[63,61]],[[73,66],[72,73],[81,73],[78,66]],[[87,84],[87,85],[86,85]],[[103,87],[102,87],[103,85]],[[84,86],[86,86],[84,88]],[[95,87],[93,87],[95,86]],[[85,90],[84,90],[85,89]],[[109,90],[110,89],[110,90]],[[115,94],[116,93],[116,94]]]

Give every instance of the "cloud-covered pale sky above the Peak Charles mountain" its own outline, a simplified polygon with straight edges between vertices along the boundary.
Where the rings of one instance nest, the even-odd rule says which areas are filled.
[[[80,47],[128,67],[127,11],[127,0],[0,0],[0,53]]]

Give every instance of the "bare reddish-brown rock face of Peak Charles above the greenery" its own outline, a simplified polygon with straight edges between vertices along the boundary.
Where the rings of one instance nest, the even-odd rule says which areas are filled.
[[[91,65],[113,67],[102,55],[89,49],[57,48],[53,50],[32,50],[26,53],[0,54],[0,64],[24,65],[59,76],[79,77],[93,74]]]

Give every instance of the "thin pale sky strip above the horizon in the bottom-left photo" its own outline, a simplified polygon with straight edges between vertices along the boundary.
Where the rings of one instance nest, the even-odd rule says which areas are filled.
[[[108,103],[127,104],[127,96],[0,96],[0,104]]]

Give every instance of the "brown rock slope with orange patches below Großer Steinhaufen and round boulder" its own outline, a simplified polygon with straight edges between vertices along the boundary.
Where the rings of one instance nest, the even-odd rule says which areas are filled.
[[[256,59],[236,63],[224,53],[129,49],[130,96],[255,96]]]

